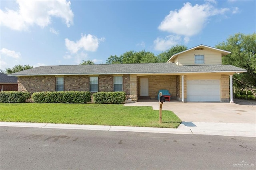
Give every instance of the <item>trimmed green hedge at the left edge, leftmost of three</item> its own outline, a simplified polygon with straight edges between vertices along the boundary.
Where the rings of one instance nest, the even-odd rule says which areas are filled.
[[[30,98],[29,92],[23,91],[1,91],[0,103],[25,103]]]

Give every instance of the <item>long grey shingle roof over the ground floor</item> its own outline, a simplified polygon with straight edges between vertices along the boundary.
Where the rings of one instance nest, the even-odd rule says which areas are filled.
[[[200,73],[200,72],[245,72],[233,65],[178,66],[175,63],[137,63],[100,65],[51,65],[40,66],[17,73],[26,75],[93,75],[93,74],[152,74],[152,73]]]

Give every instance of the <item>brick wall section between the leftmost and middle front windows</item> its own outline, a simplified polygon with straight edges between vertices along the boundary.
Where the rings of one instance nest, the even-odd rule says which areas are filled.
[[[89,91],[89,76],[65,75],[64,91]]]

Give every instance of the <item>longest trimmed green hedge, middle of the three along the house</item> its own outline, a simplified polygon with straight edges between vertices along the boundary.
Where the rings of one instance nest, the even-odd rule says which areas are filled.
[[[91,101],[91,93],[88,91],[45,91],[32,95],[36,103],[88,103]]]

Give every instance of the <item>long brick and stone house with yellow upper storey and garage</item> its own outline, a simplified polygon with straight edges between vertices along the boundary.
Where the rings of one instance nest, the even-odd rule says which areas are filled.
[[[246,72],[222,65],[229,51],[198,45],[170,57],[167,63],[52,65],[11,74],[18,91],[125,91],[128,100],[156,99],[167,89],[172,99],[231,102],[232,75]]]

